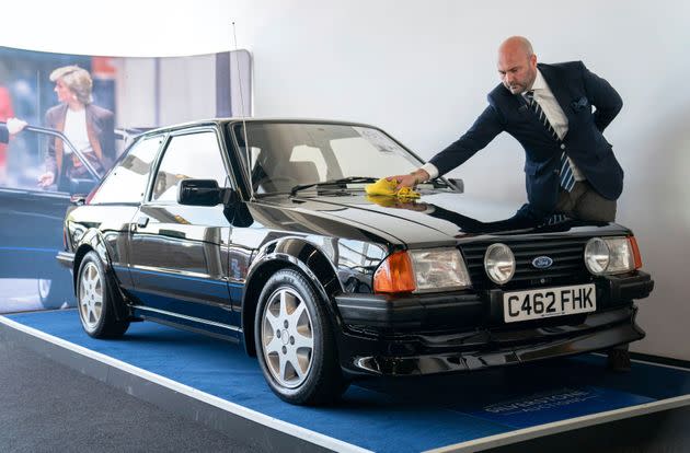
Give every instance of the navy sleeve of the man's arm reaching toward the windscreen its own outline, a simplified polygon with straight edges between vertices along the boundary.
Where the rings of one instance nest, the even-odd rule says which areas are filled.
[[[462,137],[433,156],[429,163],[438,169],[439,175],[444,175],[486,147],[503,130],[498,113],[490,105]]]

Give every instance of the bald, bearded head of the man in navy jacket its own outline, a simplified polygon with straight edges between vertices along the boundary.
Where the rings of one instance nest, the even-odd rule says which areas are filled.
[[[513,94],[532,88],[537,78],[537,56],[522,36],[510,36],[498,47],[498,73],[504,86]]]

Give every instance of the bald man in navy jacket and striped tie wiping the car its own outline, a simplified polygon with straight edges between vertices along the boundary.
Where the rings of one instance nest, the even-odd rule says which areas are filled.
[[[502,83],[470,130],[412,174],[389,179],[413,187],[444,175],[505,131],[525,149],[529,217],[614,221],[623,170],[603,130],[623,106],[621,96],[582,61],[538,63],[521,36],[501,45],[497,66]],[[625,345],[609,352],[608,364],[630,369]]]

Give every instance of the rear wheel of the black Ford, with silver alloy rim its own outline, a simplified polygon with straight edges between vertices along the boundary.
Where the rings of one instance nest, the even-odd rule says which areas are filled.
[[[116,305],[124,303],[114,278],[106,272],[95,252],[89,252],[79,266],[77,306],[81,326],[93,338],[122,337],[129,320],[117,320]]]

